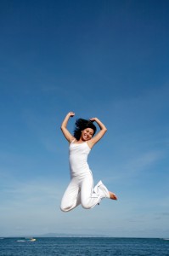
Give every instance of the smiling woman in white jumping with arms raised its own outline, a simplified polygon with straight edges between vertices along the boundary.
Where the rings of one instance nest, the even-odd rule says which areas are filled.
[[[101,181],[93,188],[93,174],[87,164],[87,155],[94,144],[104,136],[106,127],[98,118],[77,119],[74,136],[72,136],[66,127],[70,117],[74,115],[73,112],[67,113],[61,125],[61,131],[70,143],[71,178],[61,201],[60,208],[63,212],[68,212],[80,204],[85,209],[93,208],[103,198],[117,200],[116,195],[110,192]],[[96,132],[94,121],[99,125],[100,131],[93,137]]]

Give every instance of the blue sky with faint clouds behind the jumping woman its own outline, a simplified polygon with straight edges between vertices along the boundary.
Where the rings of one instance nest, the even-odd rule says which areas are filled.
[[[169,237],[169,2],[0,3],[0,236]],[[118,195],[64,213],[60,124],[98,117],[89,165]]]

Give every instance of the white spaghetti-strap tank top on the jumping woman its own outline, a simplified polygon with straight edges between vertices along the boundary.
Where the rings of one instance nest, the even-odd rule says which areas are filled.
[[[77,176],[84,172],[89,171],[87,164],[87,156],[91,148],[88,147],[87,142],[76,144],[70,143],[70,174]]]

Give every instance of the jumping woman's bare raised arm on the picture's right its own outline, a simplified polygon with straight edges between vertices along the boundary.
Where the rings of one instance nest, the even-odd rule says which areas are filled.
[[[95,121],[99,125],[99,128],[100,128],[100,131],[91,140],[89,140],[87,142],[89,147],[92,148],[93,145],[95,143],[98,143],[99,140],[104,136],[105,132],[107,131],[107,128],[98,118],[92,118],[90,120]]]

